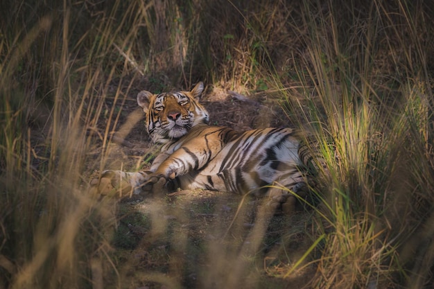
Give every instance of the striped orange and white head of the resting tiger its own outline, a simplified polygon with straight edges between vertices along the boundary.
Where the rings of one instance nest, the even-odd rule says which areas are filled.
[[[195,125],[208,123],[208,112],[198,103],[204,90],[199,82],[191,91],[173,91],[152,94],[140,91],[137,103],[146,114],[146,129],[157,143],[179,139]]]

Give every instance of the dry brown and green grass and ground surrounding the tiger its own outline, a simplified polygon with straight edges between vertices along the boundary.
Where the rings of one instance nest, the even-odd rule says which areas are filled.
[[[2,3],[0,288],[433,288],[433,17],[404,0]],[[234,109],[216,123],[279,104],[313,132],[319,207],[89,194],[98,170],[149,160],[134,95],[198,80],[261,96],[209,98]]]

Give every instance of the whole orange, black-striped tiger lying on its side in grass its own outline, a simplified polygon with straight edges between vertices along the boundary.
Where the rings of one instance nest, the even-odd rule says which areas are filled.
[[[203,82],[190,91],[140,91],[137,103],[159,153],[148,170],[105,170],[100,179],[140,195],[176,189],[252,193],[267,196],[273,209],[293,211],[314,175],[308,168],[314,164],[318,170],[309,141],[292,128],[238,131],[210,125],[199,103],[203,91]]]

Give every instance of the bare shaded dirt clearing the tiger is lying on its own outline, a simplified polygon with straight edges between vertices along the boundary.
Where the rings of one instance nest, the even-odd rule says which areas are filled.
[[[237,130],[290,125],[275,98],[265,94],[242,96],[214,89],[201,103],[215,125]],[[133,98],[120,109],[119,128],[129,119],[140,120],[132,125],[125,141],[110,143],[105,168],[144,168],[152,156],[147,157],[150,144],[143,113]],[[131,117],[134,114],[137,117]],[[98,152],[101,147],[93,153]],[[103,262],[107,288],[308,286],[313,265],[290,270],[313,243],[309,238],[312,212],[273,215],[261,204],[262,200],[250,196],[212,191],[116,200],[110,258],[102,258],[107,259]],[[309,259],[302,264],[307,262]]]

